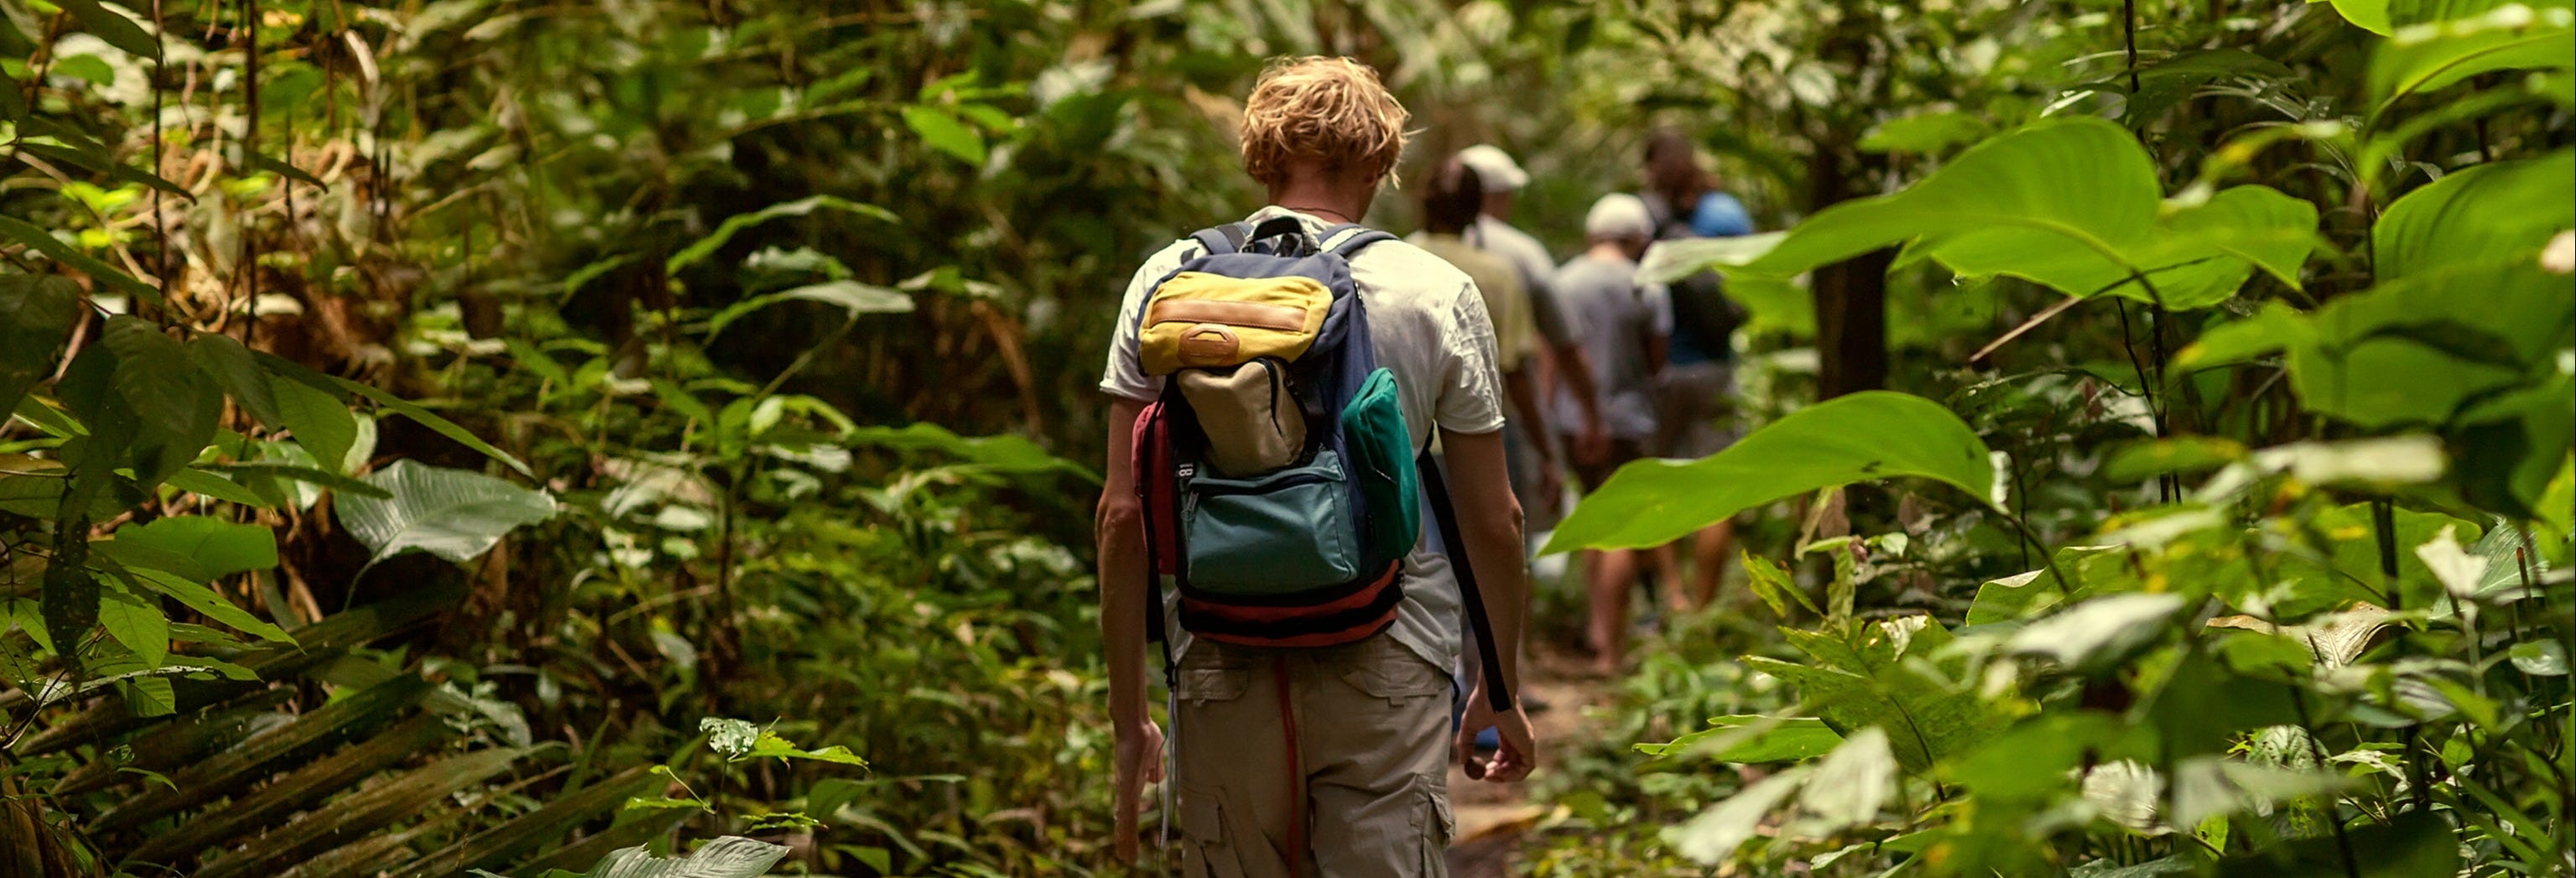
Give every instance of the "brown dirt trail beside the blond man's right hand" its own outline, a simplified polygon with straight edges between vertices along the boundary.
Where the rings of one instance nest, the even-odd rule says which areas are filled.
[[[1589,675],[1582,659],[1553,649],[1533,654],[1522,677],[1522,687],[1548,703],[1548,711],[1530,716],[1543,757],[1600,734],[1589,708],[1605,705],[1615,682]],[[1546,816],[1543,806],[1528,801],[1525,783],[1468,780],[1455,765],[1450,765],[1450,808],[1458,816],[1448,852],[1453,878],[1512,875],[1520,837]]]

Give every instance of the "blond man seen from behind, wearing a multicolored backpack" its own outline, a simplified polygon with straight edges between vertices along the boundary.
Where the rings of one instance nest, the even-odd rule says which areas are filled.
[[[1394,180],[1404,121],[1404,106],[1352,59],[1273,64],[1242,118],[1244,173],[1267,188],[1270,206],[1164,247],[1128,283],[1100,378],[1110,453],[1097,518],[1121,857],[1136,855],[1144,785],[1167,780],[1180,801],[1164,816],[1180,829],[1190,875],[1443,875],[1448,762],[1471,752],[1461,742],[1481,729],[1502,739],[1492,757],[1466,757],[1468,778],[1507,783],[1535,767],[1530,721],[1502,695],[1520,680],[1512,657],[1528,579],[1492,322],[1463,273],[1355,227]],[[1324,291],[1329,309],[1316,299]],[[1319,312],[1329,314],[1321,330]],[[1350,337],[1368,342],[1334,348]],[[1347,391],[1360,368],[1365,384]],[[1342,407],[1342,417],[1306,417],[1309,407]],[[1432,528],[1412,530],[1419,518],[1399,515],[1417,510],[1409,492],[1370,494],[1388,476],[1417,484],[1404,479],[1412,461],[1386,466],[1386,448],[1376,448],[1386,425],[1401,427],[1399,456],[1419,453],[1432,430],[1445,445],[1455,512],[1440,502],[1437,471],[1419,474],[1437,530],[1455,536],[1443,541],[1445,556],[1430,548]],[[1162,466],[1175,458],[1182,466]],[[1172,505],[1175,494],[1190,502]],[[1303,500],[1265,505],[1273,494]],[[1303,533],[1311,541],[1249,533],[1309,510],[1332,512]],[[1244,515],[1213,520],[1231,512]],[[1337,533],[1350,518],[1365,520],[1363,538],[1419,541],[1396,546],[1383,579],[1324,590],[1347,592],[1347,605],[1296,605],[1316,590],[1285,587],[1270,605],[1229,602],[1262,592],[1265,569],[1283,584],[1355,569],[1342,564],[1352,533]],[[1247,541],[1296,551],[1229,554]],[[1376,556],[1360,564],[1373,569]],[[1476,590],[1461,590],[1453,566],[1481,574]],[[1149,613],[1164,579],[1177,600]],[[1401,597],[1376,621],[1383,595]],[[1463,613],[1476,595],[1489,615]],[[1499,651],[1489,657],[1499,659],[1453,734],[1461,615],[1492,623]],[[1363,623],[1347,626],[1352,618]],[[1172,662],[1172,775],[1146,711],[1149,628]]]

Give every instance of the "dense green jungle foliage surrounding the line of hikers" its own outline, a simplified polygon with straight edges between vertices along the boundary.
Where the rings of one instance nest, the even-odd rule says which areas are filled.
[[[2566,873],[2571,33],[0,0],[0,873],[1115,873],[1092,384],[1293,51],[1558,252],[1654,124],[1788,229],[1654,265],[1752,306],[1765,433],[1553,548],[1734,515],[1747,577],[1522,870]]]

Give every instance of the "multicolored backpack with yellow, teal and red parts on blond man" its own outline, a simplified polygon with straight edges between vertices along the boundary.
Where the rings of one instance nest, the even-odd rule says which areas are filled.
[[[1136,355],[1164,376],[1136,422],[1136,489],[1162,631],[1162,577],[1180,626],[1236,646],[1340,646],[1386,631],[1425,489],[1445,546],[1448,492],[1412,453],[1396,376],[1376,363],[1350,257],[1391,234],[1296,216],[1193,234],[1198,255],[1136,312]],[[1479,644],[1492,644],[1466,556],[1453,554]],[[1486,680],[1502,680],[1484,649]],[[1497,708],[1507,703],[1499,687]]]

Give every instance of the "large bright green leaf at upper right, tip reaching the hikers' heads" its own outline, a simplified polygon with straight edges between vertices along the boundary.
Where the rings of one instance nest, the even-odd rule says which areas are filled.
[[[2262,268],[2290,283],[2316,209],[2262,185],[2164,203],[2154,160],[2099,118],[2050,118],[1976,144],[1906,191],[1844,201],[1785,234],[1656,245],[1649,276],[1718,268],[1795,276],[1906,245],[1960,276],[2014,276],[2069,296],[2210,306]]]

